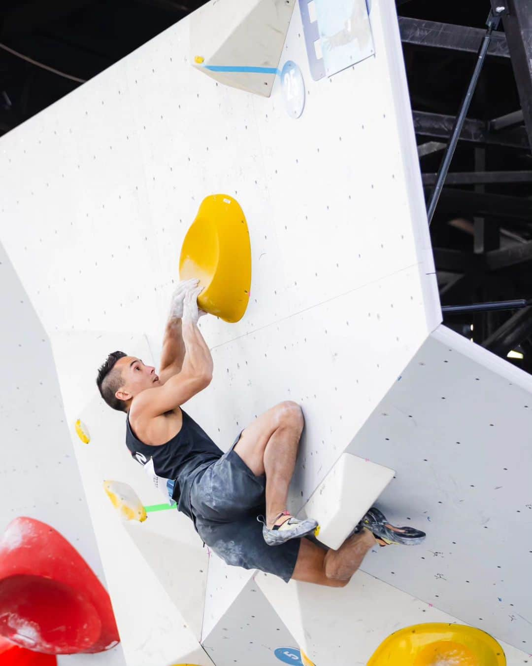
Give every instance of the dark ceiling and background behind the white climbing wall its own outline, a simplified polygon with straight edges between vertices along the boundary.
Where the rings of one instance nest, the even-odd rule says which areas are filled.
[[[514,2],[509,1],[511,13]],[[4,2],[0,135],[200,5],[198,0]],[[475,66],[490,3],[397,0],[397,5],[428,197]],[[532,34],[532,0],[519,0],[515,7],[524,13],[520,22],[505,18],[492,39],[430,227],[444,306],[532,298],[532,157],[523,113],[519,115],[523,101],[525,121],[532,120],[532,80],[522,65],[523,57],[532,57],[526,53],[532,47],[520,35],[521,29]],[[509,119],[493,123],[510,113]],[[532,123],[527,127],[532,135]],[[532,372],[531,312],[529,306],[446,313],[444,321],[503,358],[510,350],[521,352],[523,359],[509,362]]]

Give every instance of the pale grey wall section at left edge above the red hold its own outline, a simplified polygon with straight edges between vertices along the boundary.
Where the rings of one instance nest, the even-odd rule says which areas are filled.
[[[0,535],[18,516],[47,523],[70,541],[108,589],[50,340],[1,243],[0,285]],[[59,656],[58,663],[124,666],[126,662],[118,645],[98,655]]]

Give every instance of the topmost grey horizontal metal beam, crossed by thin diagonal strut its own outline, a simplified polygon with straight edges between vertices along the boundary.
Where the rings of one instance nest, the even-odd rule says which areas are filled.
[[[409,19],[404,16],[400,16],[398,19],[401,41],[406,44],[477,53],[485,35],[485,30],[469,28],[465,25],[436,23],[436,21]],[[504,33],[493,33],[487,55],[509,58],[510,54]]]

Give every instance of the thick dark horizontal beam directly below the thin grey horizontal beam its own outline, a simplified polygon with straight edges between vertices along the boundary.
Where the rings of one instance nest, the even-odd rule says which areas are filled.
[[[532,218],[532,200],[521,196],[483,194],[445,188],[440,196],[438,210],[447,212],[453,217],[479,215],[528,221]]]

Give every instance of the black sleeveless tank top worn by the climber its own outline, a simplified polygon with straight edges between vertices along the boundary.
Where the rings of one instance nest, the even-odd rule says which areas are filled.
[[[126,418],[126,446],[135,460],[148,466],[159,482],[167,484],[169,494],[178,502],[178,510],[193,518],[190,509],[190,484],[196,474],[223,455],[211,440],[184,410],[183,425],[170,442],[158,446],[148,446],[133,432]],[[173,488],[172,488],[173,486]],[[194,519],[194,518],[193,518]]]

